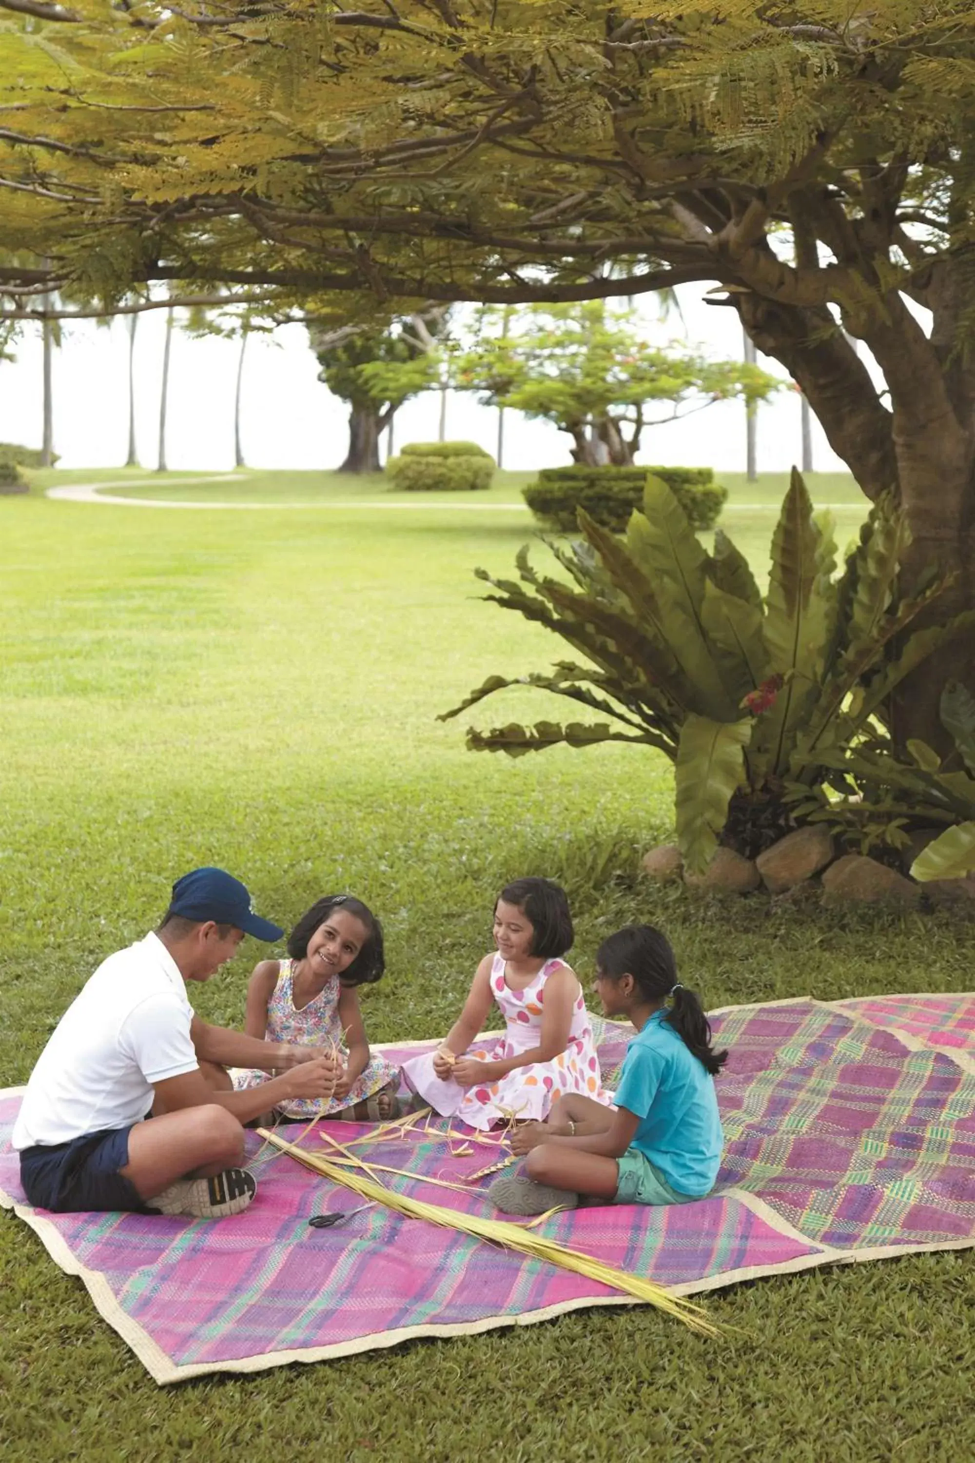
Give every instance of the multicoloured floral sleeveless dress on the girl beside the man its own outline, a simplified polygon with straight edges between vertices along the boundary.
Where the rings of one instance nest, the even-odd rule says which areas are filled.
[[[278,967],[278,982],[270,1001],[268,1002],[268,1042],[287,1042],[289,1046],[323,1046],[335,1042],[344,1062],[348,1062],[348,1052],[342,1046],[342,1021],[339,1020],[339,995],[342,983],[339,976],[332,976],[329,983],[319,992],[314,1001],[308,1001],[301,1009],[295,1009],[292,995],[294,961],[282,960]],[[259,1087],[269,1081],[270,1074],[257,1068],[235,1068],[231,1078],[237,1091],[246,1087]],[[291,1097],[278,1103],[278,1112],[288,1118],[327,1118],[342,1112],[344,1107],[354,1107],[357,1102],[371,1097],[387,1083],[399,1084],[399,1068],[384,1056],[373,1053],[368,1067],[352,1083],[345,1097],[332,1097],[325,1102],[322,1097]]]

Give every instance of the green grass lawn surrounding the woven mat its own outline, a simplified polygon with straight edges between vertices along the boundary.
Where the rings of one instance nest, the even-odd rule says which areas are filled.
[[[504,474],[491,496],[517,502],[525,477]],[[721,477],[725,525],[762,571],[784,483]],[[70,480],[196,500],[384,493],[292,473],[205,487],[95,470],[35,486]],[[852,533],[852,481],[810,487]],[[4,1084],[26,1078],[95,964],[158,919],[172,878],[206,862],[285,925],[332,890],[376,907],[389,970],[364,996],[374,1040],[446,1030],[488,948],[493,897],[520,873],[566,882],[583,980],[596,941],[639,917],[664,925],[710,1005],[974,985],[975,936],[946,914],[826,917],[642,882],[639,853],[671,828],[655,753],[463,751],[465,718],[439,711],[491,672],[561,654],[478,600],[474,566],[510,569],[532,534],[523,512],[133,511],[35,490],[0,499],[0,519]],[[512,692],[479,721],[550,712]],[[249,942],[200,990],[203,1015],[243,1018],[257,954]],[[956,1252],[718,1292],[719,1342],[650,1309],[582,1311],[159,1391],[80,1282],[0,1214],[0,1443],[4,1463],[966,1459],[974,1305],[975,1265]]]

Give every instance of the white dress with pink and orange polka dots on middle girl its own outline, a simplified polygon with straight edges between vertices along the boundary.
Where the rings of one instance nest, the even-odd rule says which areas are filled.
[[[491,995],[507,1027],[500,1036],[488,1034],[475,1040],[463,1055],[491,1062],[517,1056],[519,1052],[538,1046],[542,1034],[545,983],[553,971],[564,964],[564,960],[547,960],[531,985],[523,990],[512,990],[504,979],[504,960],[497,954],[491,966]],[[564,1093],[582,1093],[607,1105],[611,1102],[599,1077],[599,1058],[582,992],[573,1007],[569,1045],[550,1062],[516,1067],[496,1083],[460,1087],[455,1081],[441,1081],[437,1077],[433,1069],[433,1053],[428,1052],[405,1062],[403,1077],[436,1112],[459,1118],[460,1122],[482,1132],[498,1122],[507,1122],[512,1116],[519,1122],[541,1121],[548,1116],[553,1102]]]

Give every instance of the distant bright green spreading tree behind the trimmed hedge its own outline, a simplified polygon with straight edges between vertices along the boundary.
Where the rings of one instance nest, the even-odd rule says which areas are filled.
[[[637,312],[604,300],[529,306],[504,334],[500,316],[481,312],[478,341],[455,364],[458,385],[485,404],[554,421],[572,436],[576,462],[627,467],[648,427],[715,401],[762,401],[779,386],[753,364],[650,347]],[[671,410],[648,415],[652,402]]]

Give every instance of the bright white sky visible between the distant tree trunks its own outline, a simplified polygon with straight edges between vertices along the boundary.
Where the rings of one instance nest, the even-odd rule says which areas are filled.
[[[687,339],[713,357],[741,357],[741,326],[729,309],[706,306],[705,287],[678,291]],[[655,317],[655,300],[643,304],[648,338],[681,336],[677,316]],[[143,467],[156,465],[159,382],[165,312],[146,312],[136,334],[137,445]],[[120,467],[126,459],[129,336],[123,320],[96,326],[66,322],[54,357],[54,446],[61,467]],[[15,345],[16,361],[0,363],[0,440],[41,443],[39,326],[28,325]],[[234,465],[235,341],[172,335],[167,458],[172,470],[221,471]],[[759,357],[773,375],[778,363]],[[303,326],[279,329],[273,338],[251,336],[243,392],[243,442],[249,467],[332,468],[346,446],[346,413],[317,380],[319,364]],[[396,445],[437,436],[439,396],[427,392],[396,414]],[[759,408],[759,470],[785,471],[800,461],[800,398],[779,392]],[[813,461],[820,471],[842,471],[813,418]],[[452,394],[447,436],[479,442],[496,451],[497,413],[474,396]],[[554,426],[506,413],[504,467],[557,467],[570,461],[570,439]],[[706,411],[646,432],[639,461],[662,465],[715,467],[744,471],[744,407],[722,402]]]

